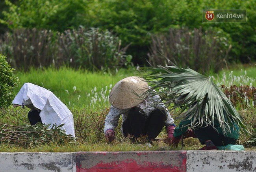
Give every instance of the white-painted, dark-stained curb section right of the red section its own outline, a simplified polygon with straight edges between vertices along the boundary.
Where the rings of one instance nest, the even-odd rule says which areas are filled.
[[[187,172],[256,171],[256,152],[187,151]]]

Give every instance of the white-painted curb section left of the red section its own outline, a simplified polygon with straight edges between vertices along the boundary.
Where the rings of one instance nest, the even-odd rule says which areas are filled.
[[[73,153],[0,153],[0,172],[72,172],[76,171]]]

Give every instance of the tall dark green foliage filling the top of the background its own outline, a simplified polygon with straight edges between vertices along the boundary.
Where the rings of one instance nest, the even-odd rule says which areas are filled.
[[[233,61],[256,59],[256,1],[254,0],[20,0],[4,11],[1,20],[10,29],[98,27],[116,33],[124,44],[132,43],[128,54],[145,62],[150,35],[169,28],[202,27],[223,30],[231,37]],[[246,23],[202,23],[202,9],[247,9]]]

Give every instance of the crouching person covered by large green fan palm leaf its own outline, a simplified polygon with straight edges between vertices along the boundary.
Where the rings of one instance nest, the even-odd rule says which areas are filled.
[[[200,150],[215,150],[235,144],[239,128],[247,132],[232,103],[210,77],[176,66],[152,71],[146,77],[152,85],[150,91],[155,89],[172,109],[180,108],[178,117],[183,120],[174,130],[172,144],[178,144],[182,136],[194,137],[206,144]]]

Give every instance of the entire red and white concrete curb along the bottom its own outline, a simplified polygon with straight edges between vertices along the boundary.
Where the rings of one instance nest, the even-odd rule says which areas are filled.
[[[256,151],[0,153],[0,171],[256,171]]]

